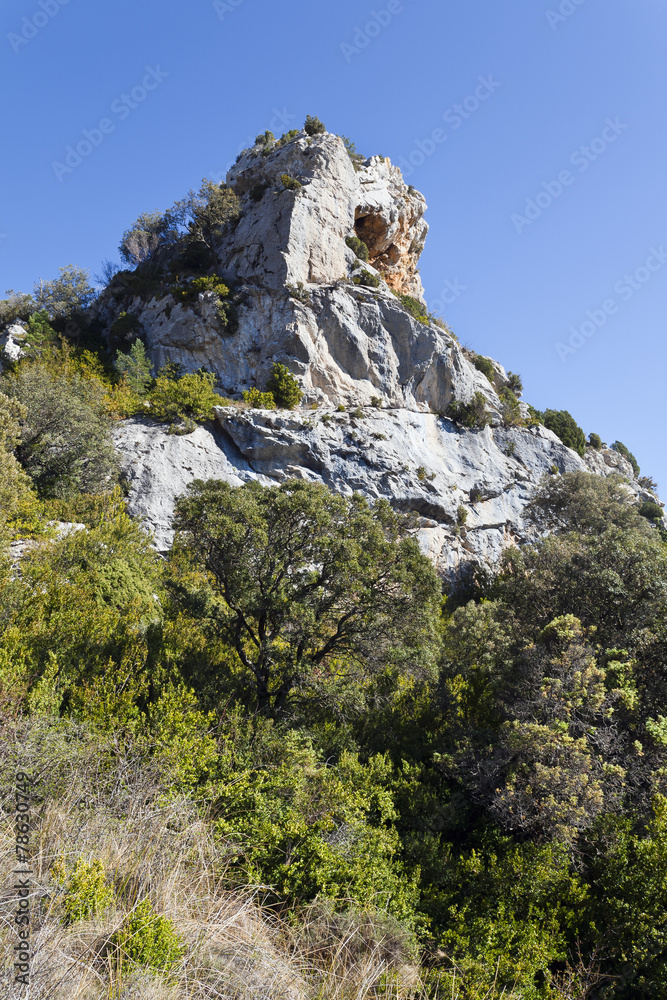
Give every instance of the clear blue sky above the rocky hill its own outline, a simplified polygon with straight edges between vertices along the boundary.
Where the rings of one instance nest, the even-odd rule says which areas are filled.
[[[318,115],[415,165],[460,340],[667,493],[666,0],[5,0],[0,25],[0,292],[94,274],[139,212]]]

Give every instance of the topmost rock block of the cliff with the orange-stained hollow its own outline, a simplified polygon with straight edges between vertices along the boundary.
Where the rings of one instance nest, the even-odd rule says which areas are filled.
[[[286,189],[284,177],[300,187]],[[428,230],[426,203],[383,157],[355,164],[339,136],[301,133],[284,146],[242,154],[227,184],[243,207],[221,247],[230,277],[272,288],[331,284],[354,264],[345,240],[356,235],[390,288],[423,299],[417,261]]]

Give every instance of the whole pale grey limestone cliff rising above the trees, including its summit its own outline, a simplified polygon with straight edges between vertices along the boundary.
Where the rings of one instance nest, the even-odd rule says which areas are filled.
[[[296,476],[415,511],[421,544],[455,581],[532,537],[523,512],[545,473],[589,469],[632,480],[616,452],[589,448],[583,460],[544,427],[504,426],[504,369],[493,363],[492,385],[470,352],[426,318],[417,272],[426,206],[387,160],[355,164],[337,136],[300,133],[244,153],[227,183],[242,216],[221,238],[216,272],[241,297],[235,331],[221,324],[210,293],[194,306],[167,295],[137,296],[123,308],[141,321],[157,365],[206,366],[238,398],[263,389],[279,361],[298,377],[304,401],[294,412],[221,406],[215,426],[183,436],[142,420],[117,429],[130,510],[158,548],[169,547],[175,499],[193,479],[240,485]],[[349,237],[367,245],[367,262]],[[355,282],[363,270],[371,278]],[[411,296],[409,308],[400,295]],[[102,300],[103,322],[114,309],[113,297]],[[452,401],[476,394],[491,425],[466,430],[444,416]],[[631,488],[643,497],[638,484]]]

